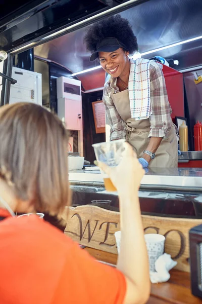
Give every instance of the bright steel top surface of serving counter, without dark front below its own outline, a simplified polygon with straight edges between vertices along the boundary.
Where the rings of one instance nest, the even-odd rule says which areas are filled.
[[[70,171],[72,184],[104,185],[102,175],[97,171]],[[141,189],[183,189],[202,192],[202,168],[152,168],[141,181]]]

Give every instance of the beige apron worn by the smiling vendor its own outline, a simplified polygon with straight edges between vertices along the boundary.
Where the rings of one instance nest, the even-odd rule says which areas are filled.
[[[143,150],[147,148],[150,139],[148,137],[150,132],[149,118],[138,121],[131,118],[128,90],[111,94],[111,97],[119,115],[126,123],[126,140],[134,147],[137,157],[140,158],[143,156]],[[150,161],[149,167],[177,167],[178,143],[174,125],[171,127],[168,137],[162,139],[155,154],[156,158]]]

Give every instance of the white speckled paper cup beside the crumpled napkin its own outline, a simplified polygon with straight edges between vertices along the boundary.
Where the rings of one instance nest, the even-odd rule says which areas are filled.
[[[148,252],[149,271],[155,272],[155,262],[164,253],[166,238],[159,234],[144,235]]]

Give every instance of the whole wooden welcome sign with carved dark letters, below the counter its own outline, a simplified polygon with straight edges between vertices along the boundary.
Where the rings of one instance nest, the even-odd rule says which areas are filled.
[[[119,212],[87,205],[68,210],[68,217],[63,216],[67,221],[65,234],[83,246],[117,254],[114,233],[120,230]],[[189,272],[188,233],[202,220],[142,215],[142,221],[145,233],[166,237],[165,252],[178,262],[175,268]]]

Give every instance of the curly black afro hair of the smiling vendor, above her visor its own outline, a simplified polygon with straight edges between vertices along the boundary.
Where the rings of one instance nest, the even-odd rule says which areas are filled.
[[[130,54],[138,51],[137,38],[132,31],[129,21],[120,14],[108,17],[90,25],[84,36],[84,44],[87,51],[96,51],[96,44],[104,38],[114,37],[124,43]]]

